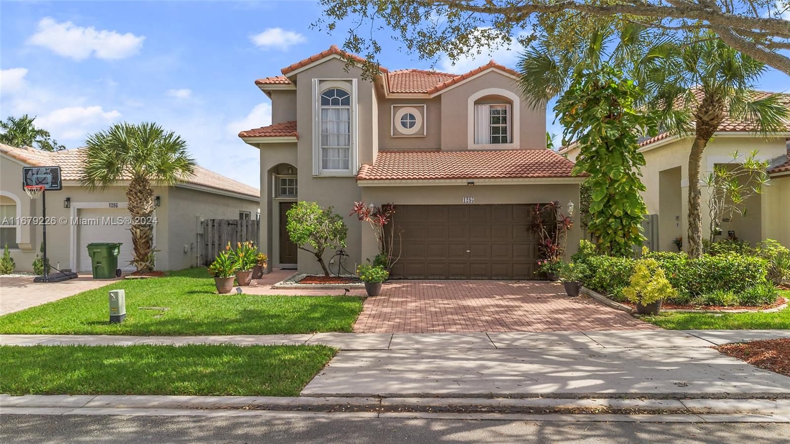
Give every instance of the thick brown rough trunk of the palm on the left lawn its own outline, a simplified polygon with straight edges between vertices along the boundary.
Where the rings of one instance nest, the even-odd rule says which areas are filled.
[[[132,216],[132,246],[134,254],[132,263],[137,271],[149,273],[153,271],[153,189],[148,179],[137,177],[132,179],[126,189],[129,201],[129,213]]]

